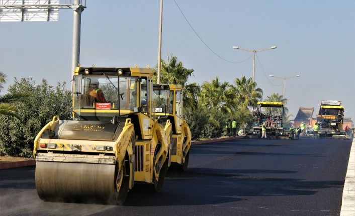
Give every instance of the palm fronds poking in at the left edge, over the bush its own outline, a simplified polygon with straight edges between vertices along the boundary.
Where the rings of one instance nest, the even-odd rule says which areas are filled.
[[[6,83],[6,78],[6,74],[0,72],[0,92],[3,91],[4,86],[2,84]],[[28,94],[23,93],[0,95],[0,115],[14,116],[21,120],[20,116],[17,114],[17,107],[12,103],[24,99],[27,96]]]

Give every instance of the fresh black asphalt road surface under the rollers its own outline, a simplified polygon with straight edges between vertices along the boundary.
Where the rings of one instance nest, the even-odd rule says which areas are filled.
[[[124,206],[44,202],[35,167],[0,170],[1,215],[339,215],[351,140],[239,139],[194,145],[163,191]]]

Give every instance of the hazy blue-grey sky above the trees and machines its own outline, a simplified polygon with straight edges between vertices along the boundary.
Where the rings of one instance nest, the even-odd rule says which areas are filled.
[[[234,62],[252,53],[232,49],[277,49],[257,53],[255,81],[264,91],[283,94],[290,113],[321,100],[341,100],[345,116],[355,117],[355,1],[176,0],[205,43]],[[81,17],[82,66],[138,64],[155,67],[159,0],[86,0]],[[0,23],[0,71],[14,77],[42,78],[51,85],[70,80],[72,11],[60,10],[58,22]],[[162,58],[174,55],[195,70],[190,82],[216,76],[233,82],[252,75],[253,59],[224,61],[195,35],[173,0],[164,0]],[[259,62],[261,64],[259,64]],[[6,86],[7,88],[7,86]],[[70,88],[68,86],[68,88]]]

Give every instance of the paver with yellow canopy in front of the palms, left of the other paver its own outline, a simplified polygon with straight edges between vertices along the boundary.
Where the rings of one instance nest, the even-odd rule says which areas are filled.
[[[246,130],[246,136],[261,137],[261,127],[265,122],[267,127],[267,136],[275,138],[291,137],[291,131],[285,130],[283,102],[258,101],[256,110],[253,111],[253,126]]]

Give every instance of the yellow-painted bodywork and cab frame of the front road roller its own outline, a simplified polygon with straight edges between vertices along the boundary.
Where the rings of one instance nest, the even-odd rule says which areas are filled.
[[[93,68],[77,67],[74,75],[79,75],[80,71],[82,72],[86,69],[93,70]],[[154,183],[153,178],[157,181],[159,179],[159,172],[162,167],[164,167],[165,160],[168,156],[170,133],[166,134],[165,130],[168,128],[171,130],[171,123],[167,122],[164,130],[155,119],[152,103],[152,70],[148,68],[129,68],[129,70],[130,76],[147,78],[148,110],[147,112],[135,113],[135,122],[131,118],[126,118],[123,130],[117,140],[98,141],[45,138],[44,134],[54,131],[55,127],[58,125],[60,120],[59,116],[54,116],[53,120],[45,125],[35,138],[33,150],[34,158],[37,161],[54,161],[59,163],[118,164],[119,173],[124,172],[123,164],[125,161],[129,160],[129,189],[133,188],[134,182]],[[117,71],[117,73],[119,72]],[[75,84],[73,84],[73,89],[74,85]],[[137,103],[140,103],[140,85],[138,85],[137,88]],[[74,99],[75,95],[73,94],[73,107]],[[80,109],[80,112],[117,114],[118,111]],[[121,111],[121,114],[124,114],[124,111]],[[134,125],[141,130],[140,140],[136,140],[137,137],[132,137],[134,134]],[[143,129],[143,127],[146,128]],[[90,129],[92,128],[88,128],[87,130]],[[95,129],[97,130],[98,128]],[[135,143],[133,143],[133,140],[135,140]],[[159,149],[157,149],[158,145],[160,146]],[[105,149],[99,150],[101,146],[104,146]],[[56,153],[56,151],[60,153]],[[77,151],[80,151],[80,154],[77,154]],[[88,154],[85,154],[86,152]],[[154,157],[157,158],[155,161]]]

